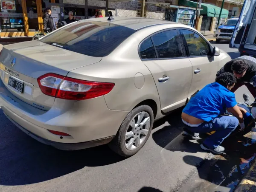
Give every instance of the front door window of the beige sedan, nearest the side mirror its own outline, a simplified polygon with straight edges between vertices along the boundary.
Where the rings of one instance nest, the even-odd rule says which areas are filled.
[[[209,44],[193,31],[181,29],[189,48],[190,56],[207,56],[210,52]]]

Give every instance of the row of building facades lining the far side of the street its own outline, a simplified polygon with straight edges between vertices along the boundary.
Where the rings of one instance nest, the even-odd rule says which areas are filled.
[[[194,26],[196,5],[184,6],[180,1],[189,0],[146,0],[144,17],[170,20]],[[194,0],[196,1],[196,0]],[[222,0],[203,0],[206,4],[221,6]],[[224,9],[229,11],[226,20],[232,14],[239,15],[232,0],[226,0]],[[192,2],[192,1],[191,1]],[[140,17],[141,0],[0,0],[0,37],[32,37],[35,32],[43,31],[43,12],[49,7],[55,23],[68,17],[73,11],[77,20],[87,19],[101,11],[105,16],[106,6],[113,16]],[[194,2],[195,4],[195,2]],[[203,9],[202,9],[203,10]],[[201,11],[203,12],[203,11]],[[214,30],[216,17],[201,14],[199,31]]]

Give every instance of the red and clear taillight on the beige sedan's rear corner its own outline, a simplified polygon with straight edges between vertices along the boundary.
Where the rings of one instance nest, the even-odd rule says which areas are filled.
[[[60,99],[84,100],[108,94],[114,83],[90,82],[47,73],[38,77],[41,91]]]

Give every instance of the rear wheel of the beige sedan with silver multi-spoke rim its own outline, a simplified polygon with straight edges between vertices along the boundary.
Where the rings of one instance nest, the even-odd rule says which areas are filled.
[[[144,117],[142,117],[142,119],[141,119],[140,118],[141,116],[144,116]],[[148,119],[148,117],[149,117],[149,119]],[[140,120],[139,120],[139,118],[140,118]],[[139,121],[141,121],[140,125],[138,124]],[[146,124],[142,125],[142,123],[144,121],[146,121]],[[132,126],[131,124],[133,124],[133,123],[134,123],[134,125]],[[130,156],[136,154],[148,140],[148,137],[150,136],[150,133],[151,133],[151,130],[153,127],[153,123],[154,123],[154,113],[153,113],[153,110],[151,109],[151,107],[149,107],[148,105],[141,105],[139,107],[134,108],[125,117],[116,136],[108,144],[109,147],[111,148],[111,150],[113,150],[117,154],[124,156],[124,157],[130,157]],[[146,127],[147,127],[147,129],[146,129]],[[143,133],[140,133],[141,131]],[[132,134],[131,134],[131,132],[132,132]],[[145,133],[147,132],[146,136],[145,136],[144,132]],[[139,135],[139,136],[137,136],[137,135]],[[128,138],[129,136],[131,136],[131,137]],[[140,138],[140,137],[143,137],[143,138]],[[134,144],[132,143],[133,139],[134,139]],[[138,144],[138,142],[139,142],[139,144]],[[130,143],[132,143],[132,144],[130,144]]]

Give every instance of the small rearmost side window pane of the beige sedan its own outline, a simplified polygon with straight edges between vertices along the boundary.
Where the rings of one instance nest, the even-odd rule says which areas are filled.
[[[140,57],[141,59],[157,58],[151,38],[148,38],[140,45]]]

